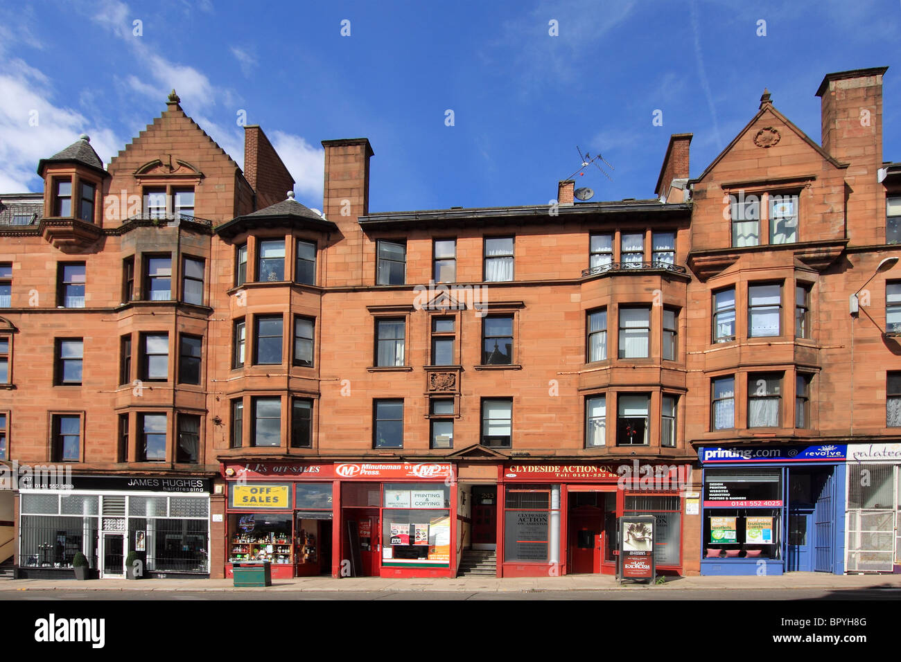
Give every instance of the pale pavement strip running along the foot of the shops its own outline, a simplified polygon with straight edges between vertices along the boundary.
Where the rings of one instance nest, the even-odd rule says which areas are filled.
[[[747,589],[824,589],[853,591],[887,589],[901,591],[901,575],[828,575],[826,573],[790,573],[780,576],[687,576],[667,577],[665,584],[646,585],[626,582],[620,585],[609,575],[566,575],[558,577],[466,576],[397,579],[391,577],[330,576],[273,579],[265,589],[235,588],[232,579],[5,579],[0,594],[7,591],[476,591],[529,593],[536,591],[681,591]],[[901,598],[901,596],[899,596]]]

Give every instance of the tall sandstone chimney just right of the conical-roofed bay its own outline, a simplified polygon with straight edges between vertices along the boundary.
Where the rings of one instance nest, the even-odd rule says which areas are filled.
[[[323,141],[325,177],[323,213],[338,225],[341,250],[330,252],[325,285],[363,284],[363,232],[358,219],[369,213],[369,159],[374,156],[367,138]],[[369,274],[368,282],[374,278]]]

